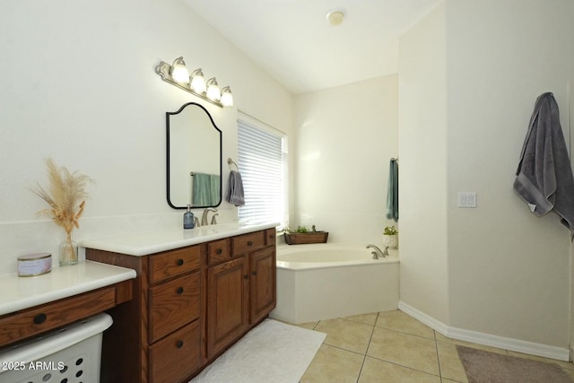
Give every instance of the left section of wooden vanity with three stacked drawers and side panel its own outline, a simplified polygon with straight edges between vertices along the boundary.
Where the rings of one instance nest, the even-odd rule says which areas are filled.
[[[202,365],[204,245],[134,257],[86,248],[86,258],[135,269],[134,299],[109,311],[101,382],[186,379]]]

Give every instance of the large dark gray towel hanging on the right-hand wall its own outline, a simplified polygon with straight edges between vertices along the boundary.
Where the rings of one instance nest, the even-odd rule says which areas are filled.
[[[574,240],[574,177],[552,93],[535,102],[518,163],[514,190],[536,216],[551,210],[561,217]]]

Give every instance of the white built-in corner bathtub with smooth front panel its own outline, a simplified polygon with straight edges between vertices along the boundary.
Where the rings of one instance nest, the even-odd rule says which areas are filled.
[[[349,317],[398,307],[398,253],[338,244],[277,247],[277,307],[289,323]]]

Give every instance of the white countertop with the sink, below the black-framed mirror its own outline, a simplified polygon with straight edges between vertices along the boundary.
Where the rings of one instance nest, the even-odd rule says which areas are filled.
[[[248,232],[271,229],[277,223],[240,224],[222,223],[217,225],[201,226],[196,229],[161,229],[142,231],[135,234],[122,234],[112,237],[95,239],[82,239],[78,246],[111,251],[129,256],[147,256],[173,248],[184,248],[210,240],[232,237]]]

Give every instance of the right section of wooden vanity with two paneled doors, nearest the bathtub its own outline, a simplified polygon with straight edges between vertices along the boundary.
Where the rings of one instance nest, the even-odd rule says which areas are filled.
[[[218,257],[208,256],[205,323],[209,360],[263,320],[276,302],[275,230],[226,240],[229,243],[214,248]]]

